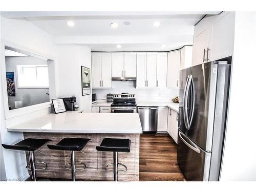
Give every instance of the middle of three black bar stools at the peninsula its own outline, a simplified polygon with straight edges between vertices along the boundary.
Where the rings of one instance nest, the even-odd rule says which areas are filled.
[[[83,138],[64,138],[56,145],[47,145],[51,150],[70,151],[70,163],[65,165],[65,168],[71,170],[72,181],[76,179],[76,171],[86,169],[86,164],[80,161],[75,161],[75,151],[82,152],[82,149],[90,139]],[[83,152],[82,152],[83,153]],[[76,168],[76,164],[83,165],[82,168]]]

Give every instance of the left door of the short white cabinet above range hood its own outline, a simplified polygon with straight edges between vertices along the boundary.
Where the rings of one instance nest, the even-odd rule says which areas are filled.
[[[123,77],[123,53],[112,53],[112,77]]]

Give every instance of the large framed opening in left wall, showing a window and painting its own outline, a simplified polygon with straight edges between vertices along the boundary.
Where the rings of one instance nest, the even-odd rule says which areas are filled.
[[[5,46],[9,110],[50,101],[48,59]]]

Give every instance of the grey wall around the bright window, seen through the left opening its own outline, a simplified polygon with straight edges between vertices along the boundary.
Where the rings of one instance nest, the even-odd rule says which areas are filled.
[[[49,102],[49,88],[18,88],[17,65],[48,65],[47,60],[32,57],[5,57],[6,71],[14,72],[15,96],[8,96],[8,103],[11,109],[15,109],[14,101],[23,101],[23,106]],[[49,78],[49,77],[47,77]]]

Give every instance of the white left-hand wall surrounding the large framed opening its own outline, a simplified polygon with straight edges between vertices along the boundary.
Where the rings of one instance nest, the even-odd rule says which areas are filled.
[[[39,55],[45,55],[54,58],[56,54],[56,46],[52,43],[52,36],[42,31],[38,27],[34,26],[27,20],[7,19],[1,16],[1,74],[4,61],[4,42],[18,45],[19,47],[28,48],[31,52],[38,53]],[[55,60],[57,71],[57,60]],[[3,107],[3,90],[1,77],[1,127],[0,134],[3,143],[14,144],[15,142],[22,140],[22,133],[11,133],[6,131],[5,127],[5,113]],[[45,112],[44,112],[45,113]],[[29,113],[23,116],[23,119],[33,118],[38,113]],[[12,121],[17,121],[13,118]],[[18,122],[18,121],[17,121]],[[1,146],[2,147],[2,146]],[[26,158],[24,152],[16,152],[3,149],[3,156],[5,162],[5,171],[7,179],[19,179],[20,177],[27,176]]]

